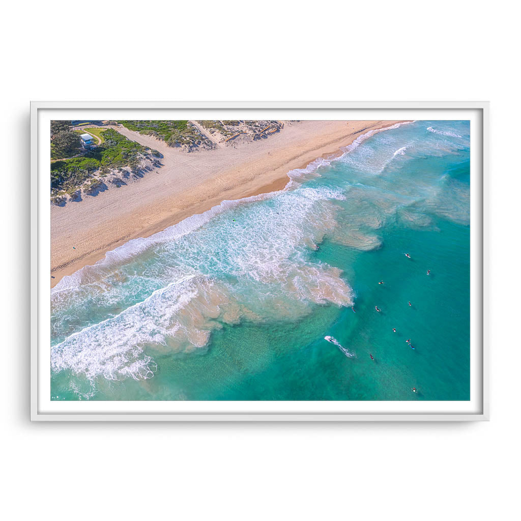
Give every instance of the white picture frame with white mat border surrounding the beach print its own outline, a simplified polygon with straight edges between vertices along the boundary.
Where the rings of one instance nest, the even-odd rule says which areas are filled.
[[[141,111],[146,119],[148,114],[157,111],[177,113],[179,111],[305,111],[318,114],[316,119],[326,119],[323,114],[337,114],[330,119],[350,119],[354,113],[386,114],[388,117],[371,119],[426,119],[417,117],[422,111],[439,114],[439,118],[429,119],[462,119],[461,116],[448,117],[448,114],[472,115],[474,131],[471,164],[476,176],[473,178],[471,195],[471,291],[474,312],[471,313],[471,362],[474,367],[474,388],[471,391],[472,407],[465,410],[451,407],[446,402],[446,410],[431,407],[423,411],[414,407],[393,410],[386,402],[379,409],[354,407],[359,402],[351,402],[349,411],[338,407],[337,402],[268,402],[259,407],[256,402],[219,402],[219,407],[200,406],[201,402],[182,402],[176,411],[169,406],[170,402],[80,402],[80,409],[71,404],[60,405],[51,410],[45,396],[45,367],[49,374],[49,361],[45,360],[41,339],[42,326],[48,317],[45,309],[45,291],[41,277],[44,269],[44,253],[47,237],[42,229],[44,212],[48,211],[43,204],[41,191],[48,179],[42,165],[42,158],[48,159],[48,140],[42,141],[42,124],[45,118],[61,111],[61,119],[70,119],[70,114],[95,114],[96,111],[107,115],[103,119],[113,119],[113,113],[121,111]],[[47,116],[46,116],[47,115]],[[51,116],[48,116],[51,115]],[[59,118],[58,118],[59,119]],[[162,119],[162,118],[159,118]],[[167,119],[167,118],[163,118]],[[173,119],[173,118],[171,118]],[[296,118],[295,118],[296,119]],[[305,119],[305,118],[301,118]],[[314,117],[309,119],[315,119]],[[351,117],[351,119],[355,119]],[[364,119],[364,118],[356,118]],[[47,161],[48,163],[48,161]],[[488,265],[488,185],[489,185],[489,103],[488,102],[31,102],[31,407],[32,421],[470,421],[489,419],[489,265]],[[478,180],[478,183],[475,182]],[[487,195],[486,195],[487,194]],[[47,279],[45,279],[47,283]],[[48,302],[48,300],[47,300]],[[48,305],[48,304],[47,304]],[[49,376],[50,378],[50,376]],[[64,404],[64,402],[59,402]],[[204,402],[207,404],[207,402]],[[264,402],[263,402],[264,403]],[[344,403],[344,402],[340,402]],[[381,403],[381,402],[378,402]],[[402,402],[400,402],[402,403]],[[406,402],[410,403],[410,402]],[[428,402],[416,402],[426,407]],[[439,403],[439,402],[436,402]],[[107,405],[108,404],[108,405]],[[130,404],[130,405],[129,405]],[[135,409],[132,409],[135,404]],[[231,404],[234,404],[233,406]],[[374,404],[374,402],[373,402]],[[403,402],[405,404],[405,402]],[[146,407],[144,407],[146,405]],[[181,404],[179,404],[181,405]],[[215,405],[215,404],[214,404]],[[226,406],[225,406],[226,405]],[[367,405],[367,404],[366,404]],[[104,410],[100,407],[104,406]],[[105,407],[106,406],[106,407]],[[165,408],[166,407],[166,408]]]

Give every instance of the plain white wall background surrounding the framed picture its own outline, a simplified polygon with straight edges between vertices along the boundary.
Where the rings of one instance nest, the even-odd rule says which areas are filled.
[[[359,4],[3,6],[0,504],[7,519],[514,517],[519,13],[502,1]],[[91,52],[80,52],[85,45]],[[490,100],[492,420],[30,424],[29,101],[116,99]]]

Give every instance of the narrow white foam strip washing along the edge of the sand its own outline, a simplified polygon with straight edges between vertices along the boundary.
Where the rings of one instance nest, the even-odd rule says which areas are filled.
[[[206,212],[202,214],[194,214],[190,217],[179,221],[177,224],[169,226],[165,228],[163,231],[154,233],[150,237],[140,237],[138,239],[132,239],[121,246],[118,246],[114,250],[110,250],[105,254],[105,257],[97,261],[94,265],[86,265],[80,268],[78,271],[75,271],[72,275],[64,276],[54,288],[51,288],[51,298],[54,294],[59,293],[60,291],[72,289],[78,287],[81,284],[82,274],[89,269],[92,269],[96,266],[104,266],[111,263],[123,262],[127,259],[134,257],[135,255],[145,251],[149,247],[162,244],[164,242],[176,240],[183,235],[187,235],[201,226],[205,225],[209,222],[213,217],[226,212],[226,210],[235,208],[244,203],[252,203],[255,201],[265,201],[267,199],[271,199],[271,197],[276,194],[284,191],[288,191],[292,188],[294,181],[305,176],[306,173],[314,173],[321,166],[329,166],[333,161],[339,160],[355,150],[357,146],[363,143],[366,139],[371,136],[377,134],[378,132],[383,132],[384,130],[392,130],[401,127],[402,125],[408,125],[409,123],[414,123],[415,121],[404,121],[400,123],[395,123],[389,127],[382,127],[380,129],[372,129],[368,132],[359,135],[351,144],[346,147],[341,147],[340,150],[343,150],[343,153],[338,157],[330,157],[330,158],[322,158],[319,157],[309,163],[305,168],[295,168],[288,172],[288,183],[282,190],[277,190],[275,192],[268,192],[264,194],[252,195],[250,197],[243,197],[242,199],[237,199],[234,201],[222,201],[220,204],[213,206]]]

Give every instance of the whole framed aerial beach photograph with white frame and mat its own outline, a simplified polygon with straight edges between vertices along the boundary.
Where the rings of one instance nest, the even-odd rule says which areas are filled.
[[[489,419],[488,109],[31,103],[31,419]]]

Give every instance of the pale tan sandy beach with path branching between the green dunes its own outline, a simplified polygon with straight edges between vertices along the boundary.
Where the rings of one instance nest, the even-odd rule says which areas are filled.
[[[149,237],[225,200],[282,190],[290,170],[398,122],[286,123],[268,139],[193,153],[119,127],[127,138],[162,153],[163,166],[119,189],[51,206],[51,287],[131,239]]]

